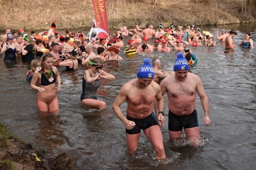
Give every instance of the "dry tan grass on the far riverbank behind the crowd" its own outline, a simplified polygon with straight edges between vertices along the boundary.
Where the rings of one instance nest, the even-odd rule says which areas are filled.
[[[151,0],[106,0],[106,4],[109,29],[116,29],[123,25],[130,28],[136,23],[143,27],[147,22],[153,25],[162,23],[165,27],[171,23],[220,25],[255,22],[255,1],[156,0],[156,4],[151,5]],[[254,8],[250,7],[251,3],[254,3]],[[94,18],[91,0],[1,0],[0,8],[1,30],[49,29],[52,21],[57,29],[89,29]]]

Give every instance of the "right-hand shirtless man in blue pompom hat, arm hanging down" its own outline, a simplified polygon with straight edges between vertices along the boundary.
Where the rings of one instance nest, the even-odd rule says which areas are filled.
[[[196,92],[200,97],[205,111],[205,126],[209,126],[209,102],[200,78],[188,72],[188,63],[183,53],[177,53],[173,67],[175,74],[166,77],[160,84],[162,95],[168,96],[168,130],[170,140],[180,138],[182,129],[192,146],[201,144],[200,130],[197,118]]]

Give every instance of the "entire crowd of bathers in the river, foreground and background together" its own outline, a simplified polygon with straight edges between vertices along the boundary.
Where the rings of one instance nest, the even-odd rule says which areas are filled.
[[[15,34],[6,30],[6,39],[2,40],[0,37],[1,54],[5,53],[5,61],[16,60],[16,57],[20,56],[22,60],[32,60],[27,77],[31,81],[30,87],[38,91],[37,108],[39,111],[57,113],[59,110],[57,93],[61,90],[62,83],[55,66],[64,66],[67,71],[72,71],[79,67],[79,63],[86,65],[89,69],[83,74],[81,103],[102,110],[106,109],[107,105],[104,101],[98,100],[97,90],[101,85],[101,79],[115,80],[114,75],[102,69],[105,62],[123,60],[118,55],[120,48],[124,47],[122,53],[126,55],[149,54],[151,51],[180,51],[177,53],[171,73],[160,70],[159,59],[153,60],[154,67],[151,66],[150,59],[144,59],[144,64],[137,72],[137,78],[122,86],[112,105],[116,116],[126,127],[128,149],[132,152],[138,149],[138,140],[141,129],[143,129],[156,152],[156,159],[165,159],[163,136],[160,130],[165,123],[163,98],[165,93],[168,96],[170,140],[180,138],[184,129],[192,146],[201,144],[195,109],[196,93],[200,97],[205,112],[204,124],[209,126],[211,123],[208,98],[202,82],[197,75],[188,72],[189,64],[196,63],[197,59],[191,50],[185,49],[190,45],[214,47],[216,41],[213,40],[213,34],[208,31],[203,31],[201,34],[200,28],[195,29],[195,25],[187,26],[185,33],[182,28],[178,26],[178,31],[175,31],[174,25],[164,29],[160,24],[158,29],[154,30],[153,26],[147,23],[146,29],[140,29],[136,24],[135,28],[129,30],[121,27],[113,34],[113,37],[92,38],[87,42],[89,38],[81,31],[72,34],[70,30],[67,30],[67,34],[62,32],[59,35],[53,22],[48,31],[39,33],[37,36],[34,32],[31,32],[30,36],[24,30],[19,30],[16,40]],[[235,47],[232,38],[237,35],[237,32],[231,29],[228,33],[229,35],[223,29],[222,35],[218,36],[217,31],[216,39],[225,41],[225,47],[232,49]],[[132,38],[125,46],[122,40],[129,36]],[[148,42],[152,38],[154,44],[150,45]],[[253,49],[250,33],[246,33],[245,39],[238,46]],[[93,50],[97,50],[97,55]],[[35,59],[35,55],[40,58],[40,61]],[[154,81],[159,80],[160,77],[164,79],[158,85]],[[125,100],[127,101],[126,117],[120,109],[120,105]]]

